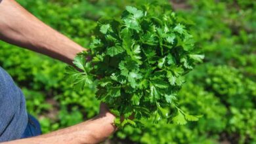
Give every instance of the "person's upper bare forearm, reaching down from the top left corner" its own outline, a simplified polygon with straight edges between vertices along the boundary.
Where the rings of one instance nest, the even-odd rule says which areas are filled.
[[[14,0],[0,3],[0,39],[72,63],[85,48],[43,24]]]

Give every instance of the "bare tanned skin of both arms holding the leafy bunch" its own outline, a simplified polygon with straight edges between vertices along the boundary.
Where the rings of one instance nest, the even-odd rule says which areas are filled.
[[[0,39],[68,64],[72,64],[77,53],[86,50],[35,18],[14,0],[0,0]],[[108,111],[106,105],[101,104],[100,114],[91,120],[49,134],[5,144],[100,143],[116,131],[114,119],[115,116]]]

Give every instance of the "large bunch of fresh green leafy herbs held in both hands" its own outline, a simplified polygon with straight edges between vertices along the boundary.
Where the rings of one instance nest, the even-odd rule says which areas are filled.
[[[157,3],[128,6],[121,18],[100,20],[91,49],[74,60],[79,70],[67,69],[75,87],[95,86],[96,98],[108,104],[117,126],[139,126],[140,118],[149,117],[175,124],[200,117],[184,113],[176,96],[203,55],[194,48],[186,21],[170,9]]]

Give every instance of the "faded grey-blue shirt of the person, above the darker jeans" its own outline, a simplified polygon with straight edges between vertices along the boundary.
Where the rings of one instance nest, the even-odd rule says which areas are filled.
[[[0,142],[20,139],[28,125],[25,98],[0,67]]]

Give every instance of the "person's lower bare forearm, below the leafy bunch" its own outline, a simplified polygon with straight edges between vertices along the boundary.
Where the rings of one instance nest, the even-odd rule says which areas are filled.
[[[4,144],[25,144],[25,143],[49,143],[49,144],[79,144],[79,143],[100,143],[112,134],[116,128],[113,126],[114,115],[108,113],[101,115],[87,122],[77,124],[56,132],[40,135],[28,139],[19,139]]]

